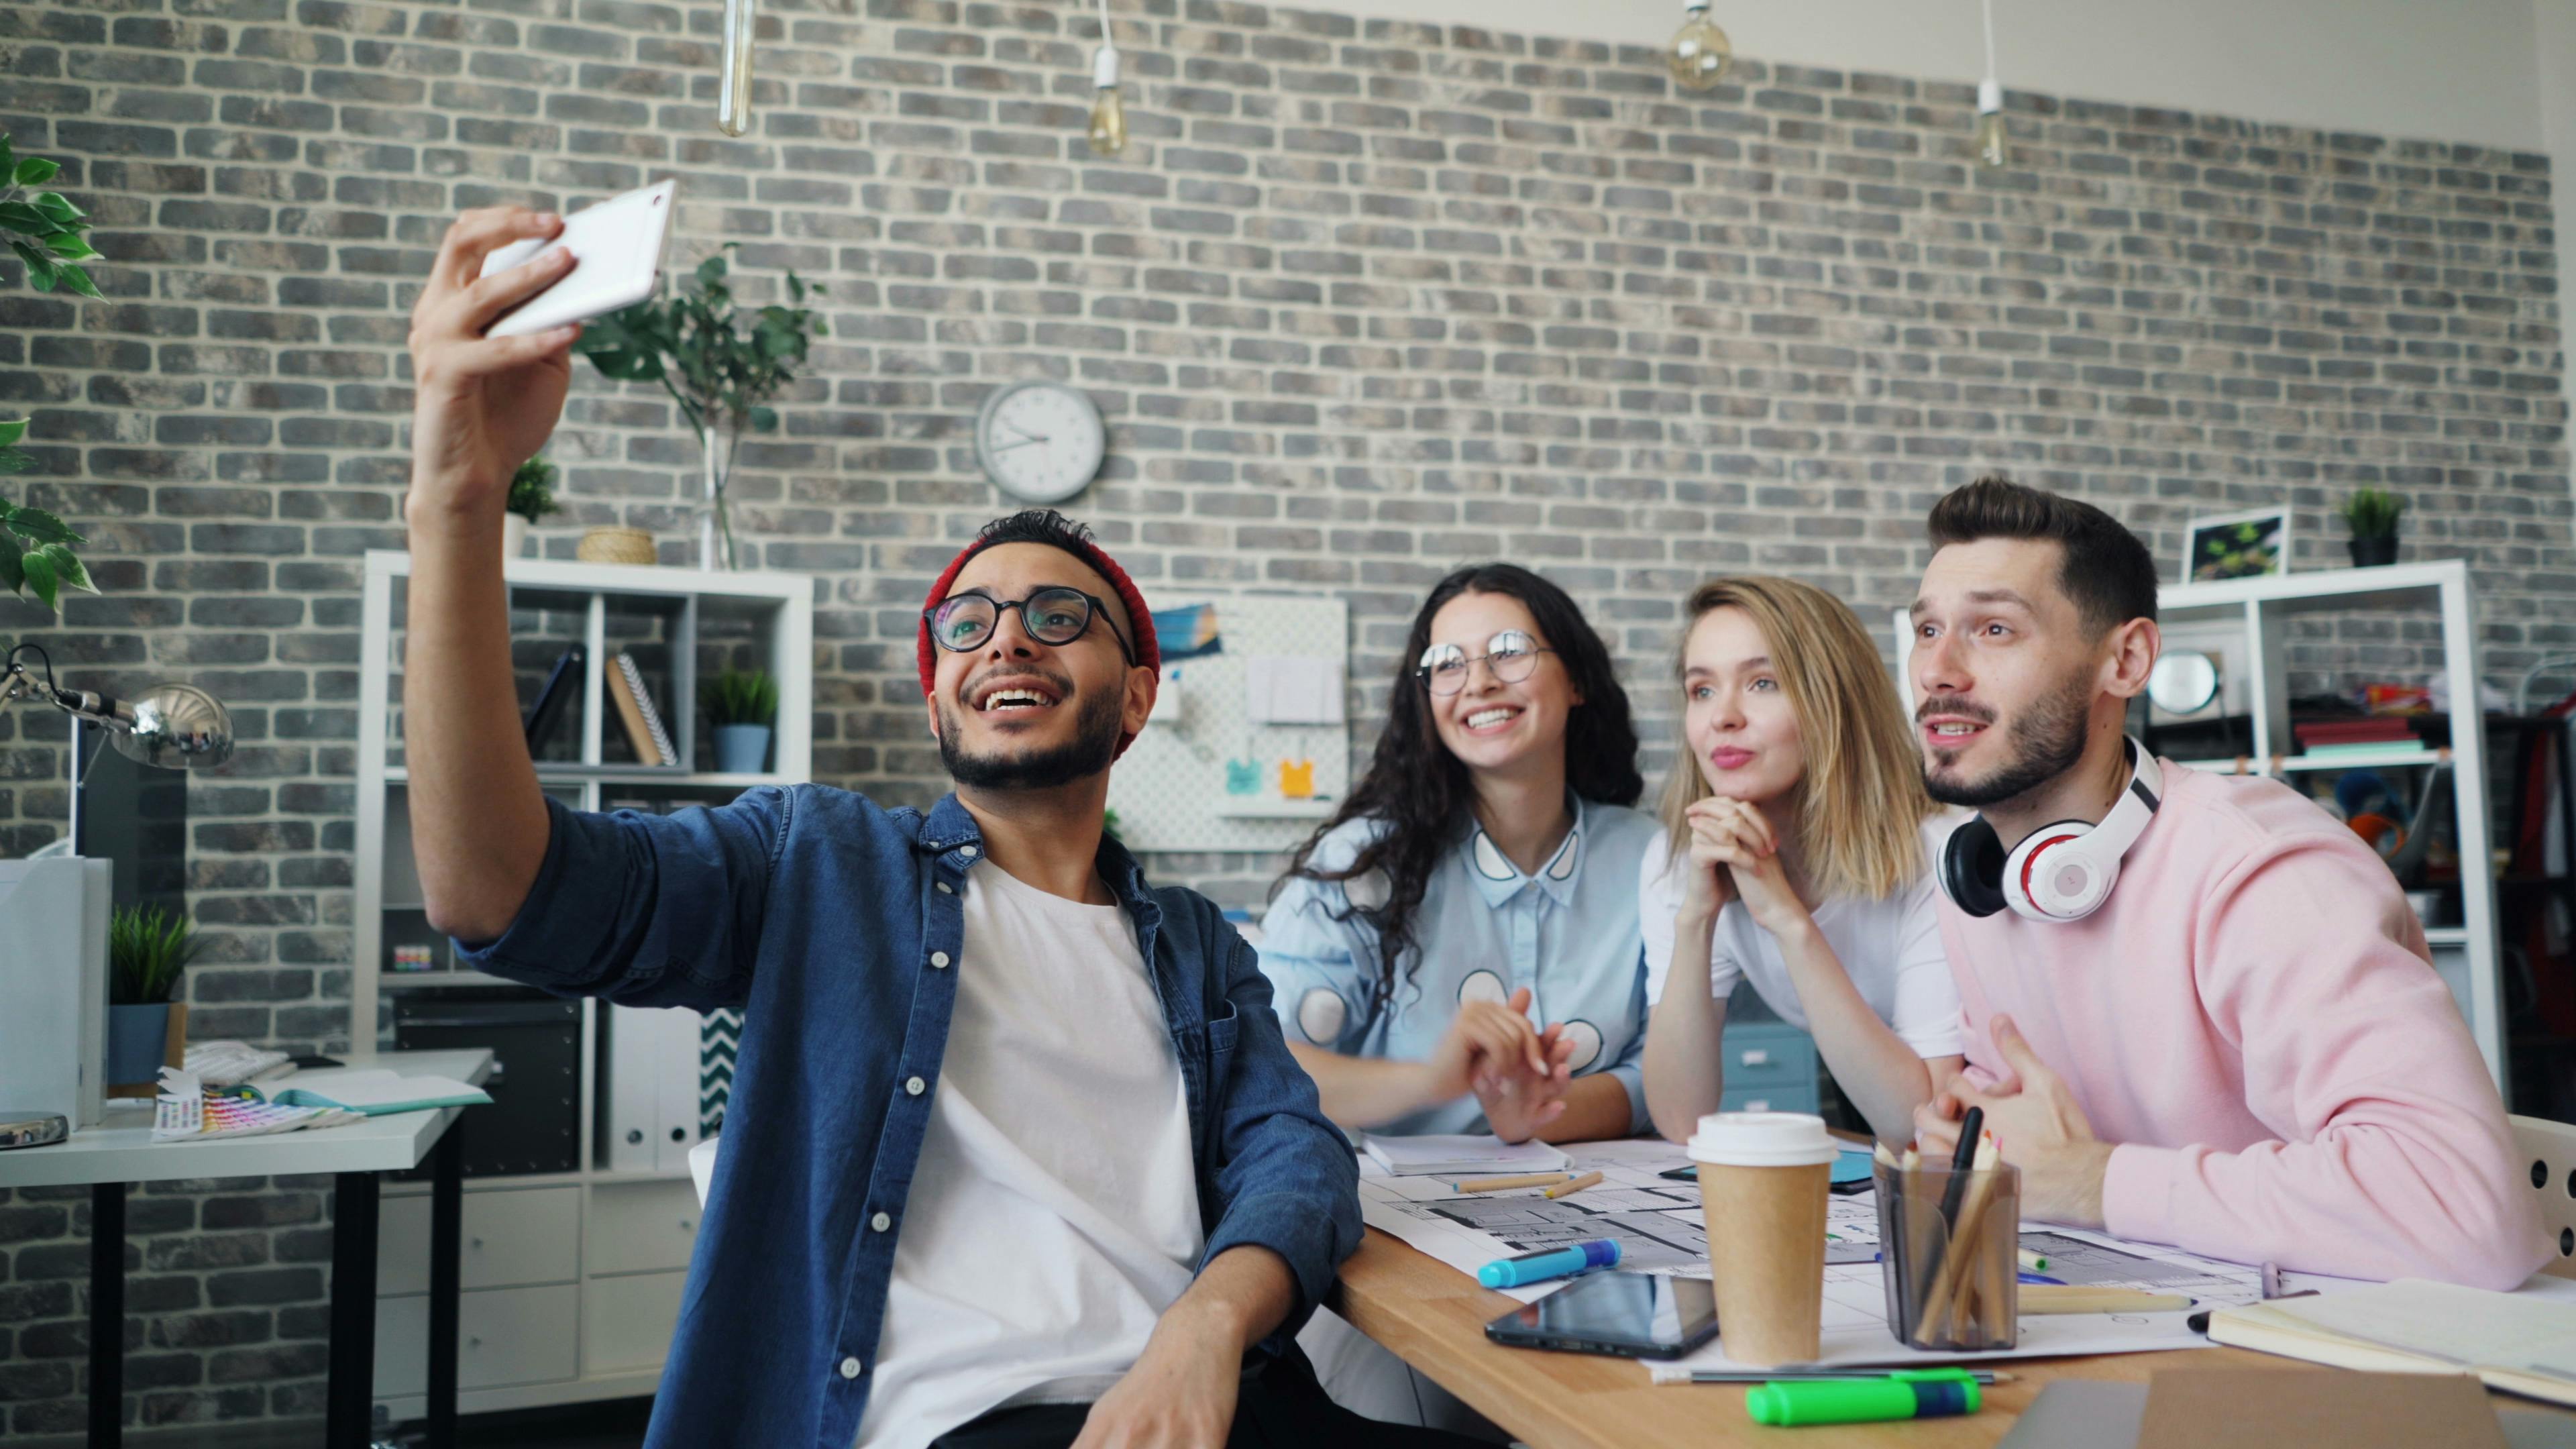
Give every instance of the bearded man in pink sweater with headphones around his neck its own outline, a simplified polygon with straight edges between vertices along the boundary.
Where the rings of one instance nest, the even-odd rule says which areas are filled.
[[[2239,1263],[2519,1284],[2550,1248],[2504,1104],[2349,828],[2277,781],[2164,761],[2099,908],[2004,908],[2002,851],[2130,792],[2156,567],[2099,508],[2002,480],[1942,498],[1929,534],[1924,784],[1994,841],[1955,861],[1968,884],[1945,879],[1968,1075],[1917,1114],[1924,1150],[1981,1106],[2027,1217]]]

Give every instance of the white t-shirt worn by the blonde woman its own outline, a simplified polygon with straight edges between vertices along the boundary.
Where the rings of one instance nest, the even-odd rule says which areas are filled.
[[[1914,1047],[1919,1057],[1958,1057],[1965,1047],[1958,1029],[1958,985],[1950,980],[1950,959],[1940,946],[1940,915],[1935,897],[1940,884],[1932,864],[1965,812],[1940,812],[1924,820],[1924,874],[1906,890],[1886,897],[1834,897],[1816,905],[1816,931],[1834,959],[1850,972],[1860,998],[1870,1011]],[[1682,861],[1687,864],[1687,859]],[[1664,1000],[1664,972],[1672,969],[1672,918],[1682,910],[1682,871],[1672,864],[1672,848],[1662,833],[1638,864],[1636,915],[1646,936],[1646,1006]],[[1741,900],[1728,900],[1718,910],[1718,923],[1708,936],[1708,990],[1718,1000],[1736,990],[1739,980],[1752,980],[1762,1000],[1806,1031],[1806,1006],[1798,1003],[1798,985],[1780,957],[1780,941],[1754,926],[1752,910]]]

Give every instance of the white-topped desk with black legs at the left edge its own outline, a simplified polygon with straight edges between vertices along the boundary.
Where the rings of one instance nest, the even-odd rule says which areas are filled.
[[[340,1052],[350,1067],[482,1083],[492,1052]],[[314,1073],[317,1080],[325,1073]],[[330,1173],[330,1408],[325,1444],[366,1449],[376,1372],[376,1173],[433,1158],[430,1178],[430,1444],[456,1441],[456,1232],[461,1220],[461,1137],[466,1109],[402,1111],[343,1127],[155,1142],[149,1111],[111,1111],[108,1127],[72,1132],[46,1147],[0,1152],[0,1189],[82,1186],[90,1191],[90,1449],[113,1446],[124,1428],[126,1343],[126,1186],[178,1178],[270,1178]]]

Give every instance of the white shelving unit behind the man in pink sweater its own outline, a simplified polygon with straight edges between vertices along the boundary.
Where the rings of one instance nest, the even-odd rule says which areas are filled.
[[[2393,745],[2331,755],[2295,753],[2290,730],[2290,627],[2300,616],[2388,611],[2432,616],[2442,627],[2442,678],[2452,701],[2450,748]],[[2486,797],[2486,730],[2478,709],[2478,621],[2465,559],[2321,570],[2226,583],[2177,583],[2156,590],[2156,616],[2166,634],[2226,634],[2246,663],[2241,691],[2221,706],[2251,714],[2254,748],[2241,761],[2182,761],[2213,773],[2298,776],[2308,771],[2396,771],[2450,761],[2450,810],[2460,846],[2460,923],[2424,933],[2434,969],[2468,1018],[2478,1052],[2499,1091],[2506,1083],[2504,995],[2496,951],[2496,879],[2488,869],[2491,822]],[[1896,614],[1896,676],[1911,706],[1914,670],[1906,668],[1914,632]],[[2233,668],[2228,670],[2236,673]]]

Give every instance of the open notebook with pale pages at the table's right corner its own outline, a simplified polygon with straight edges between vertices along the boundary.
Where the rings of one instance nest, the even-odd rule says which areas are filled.
[[[2398,1279],[2210,1312],[2210,1338],[2342,1369],[2476,1374],[2491,1390],[2576,1405],[2576,1302]]]

